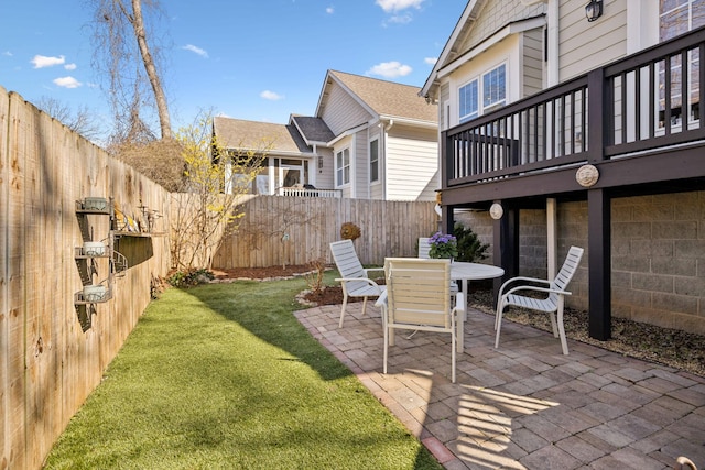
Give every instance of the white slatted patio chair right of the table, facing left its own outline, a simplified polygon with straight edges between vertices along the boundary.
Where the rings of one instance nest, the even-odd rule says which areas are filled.
[[[563,353],[567,356],[568,345],[565,340],[565,328],[563,327],[563,304],[564,297],[571,295],[565,288],[577,271],[577,266],[583,258],[583,249],[571,247],[568,254],[563,262],[563,267],[553,281],[540,280],[534,277],[512,277],[499,288],[499,297],[497,300],[497,314],[495,317],[495,329],[497,336],[495,338],[495,348],[499,348],[499,334],[502,325],[502,313],[507,306],[516,305],[518,307],[531,310],[545,311],[551,316],[551,326],[553,327],[553,336],[561,338],[561,347]],[[517,285],[521,283],[521,285]],[[536,285],[539,284],[539,285]],[[511,287],[514,285],[514,287]],[[542,287],[545,285],[547,287]],[[542,293],[544,297],[536,298],[533,296],[524,296],[516,294],[518,292]],[[556,319],[557,314],[557,319]]]

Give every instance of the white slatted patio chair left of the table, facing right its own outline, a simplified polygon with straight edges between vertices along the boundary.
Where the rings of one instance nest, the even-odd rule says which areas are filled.
[[[378,285],[369,278],[369,273],[378,271],[380,275],[383,267],[362,267],[360,260],[355,252],[352,240],[334,241],[330,243],[330,252],[333,260],[340,272],[340,276],[336,278],[343,287],[343,308],[340,309],[339,328],[343,328],[343,319],[345,317],[345,308],[348,305],[348,297],[365,297],[362,299],[362,315],[367,308],[367,297],[378,297],[384,286]]]

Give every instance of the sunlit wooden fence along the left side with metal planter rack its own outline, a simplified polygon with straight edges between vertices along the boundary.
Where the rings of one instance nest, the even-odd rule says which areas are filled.
[[[117,236],[86,197],[156,209],[169,227],[161,186],[0,87],[0,469],[41,468],[170,266],[167,237]],[[127,260],[105,302],[77,297],[115,272],[113,258],[84,255],[87,240]]]

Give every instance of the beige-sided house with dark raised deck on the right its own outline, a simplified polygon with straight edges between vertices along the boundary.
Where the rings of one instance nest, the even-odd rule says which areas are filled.
[[[705,0],[470,0],[453,24],[421,90],[446,230],[490,223],[507,276],[586,248],[594,338],[612,314],[705,334]]]

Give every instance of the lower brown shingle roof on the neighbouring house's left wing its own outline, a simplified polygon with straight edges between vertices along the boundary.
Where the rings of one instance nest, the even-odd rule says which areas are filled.
[[[213,127],[218,143],[226,149],[311,153],[294,125],[217,117],[213,120]]]

